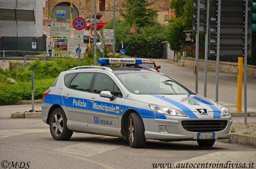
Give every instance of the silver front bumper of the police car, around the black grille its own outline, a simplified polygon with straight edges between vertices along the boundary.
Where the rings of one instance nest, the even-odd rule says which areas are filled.
[[[189,120],[180,119],[143,119],[146,139],[165,140],[165,141],[182,141],[182,140],[198,140],[198,132],[190,132],[183,128],[181,121]],[[195,120],[195,119],[191,119]],[[216,120],[216,119],[197,119],[197,120]],[[227,126],[215,133],[215,139],[226,139],[231,136],[230,126],[232,124],[231,116],[222,117],[218,120],[227,120]],[[168,133],[161,133],[159,125],[165,126]],[[207,132],[209,133],[209,132]]]

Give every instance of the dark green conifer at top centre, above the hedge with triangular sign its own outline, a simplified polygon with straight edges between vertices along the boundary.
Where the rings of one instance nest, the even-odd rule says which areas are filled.
[[[155,23],[158,10],[150,8],[155,3],[148,3],[147,0],[126,0],[127,11],[121,12],[121,16],[125,22],[132,25],[136,24],[140,27],[144,27]]]

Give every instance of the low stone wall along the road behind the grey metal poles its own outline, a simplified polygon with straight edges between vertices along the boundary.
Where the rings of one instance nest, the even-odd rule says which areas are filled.
[[[237,74],[238,71],[238,63],[231,62],[219,62],[219,72],[223,73],[231,73]],[[192,68],[195,65],[195,58],[191,57],[180,57],[178,61],[179,66]],[[204,60],[198,60],[198,69],[204,69]],[[208,60],[207,62],[207,70],[215,71],[216,70],[216,61]],[[256,66],[247,65],[247,76],[256,77]]]

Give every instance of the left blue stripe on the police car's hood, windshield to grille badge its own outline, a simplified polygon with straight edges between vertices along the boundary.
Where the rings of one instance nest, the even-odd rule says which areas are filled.
[[[181,109],[189,118],[198,118],[187,106],[184,106],[183,104],[177,102],[177,101],[174,101],[174,100],[171,100],[169,98],[166,98],[166,97],[163,97],[163,96],[160,96],[160,95],[151,95],[151,96],[154,96],[154,97],[157,97],[161,100],[164,100],[168,103],[171,103],[173,104],[174,106],[177,106],[179,109]]]

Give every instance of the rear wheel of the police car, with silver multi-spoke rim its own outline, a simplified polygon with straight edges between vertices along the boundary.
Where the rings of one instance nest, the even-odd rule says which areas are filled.
[[[73,135],[67,127],[67,117],[61,108],[53,110],[50,117],[50,132],[55,140],[68,140]]]

